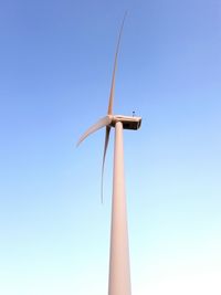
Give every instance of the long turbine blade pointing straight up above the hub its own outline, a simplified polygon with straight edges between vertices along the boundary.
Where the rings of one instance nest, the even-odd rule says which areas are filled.
[[[124,14],[124,19],[123,19],[123,22],[122,22],[122,27],[120,27],[120,30],[119,30],[119,36],[118,36],[118,41],[117,41],[117,49],[116,49],[116,53],[115,53],[114,70],[113,70],[113,75],[112,75],[112,87],[110,87],[110,93],[109,93],[109,104],[108,104],[108,109],[107,109],[107,114],[108,115],[113,114],[114,91],[115,91],[115,73],[116,73],[116,69],[117,69],[117,56],[118,56],[119,43],[120,43],[120,39],[122,39],[122,32],[123,32],[123,28],[124,28],[126,15],[127,15],[127,11]]]

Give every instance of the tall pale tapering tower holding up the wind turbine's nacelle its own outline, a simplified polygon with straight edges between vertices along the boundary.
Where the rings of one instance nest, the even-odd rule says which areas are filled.
[[[123,124],[115,125],[108,295],[130,295],[129,246],[124,179]]]

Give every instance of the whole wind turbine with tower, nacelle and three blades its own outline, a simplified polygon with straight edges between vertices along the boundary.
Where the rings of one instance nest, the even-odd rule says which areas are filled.
[[[77,143],[78,146],[91,134],[97,131],[103,127],[106,128],[104,155],[102,164],[102,199],[103,199],[103,177],[104,177],[105,157],[108,147],[110,129],[115,128],[108,295],[131,294],[127,210],[126,210],[126,193],[125,193],[125,177],[124,177],[123,129],[137,130],[140,127],[141,117],[113,114],[117,55],[119,51],[119,43],[122,39],[125,17],[120,27],[116,53],[115,53],[114,71],[112,76],[112,87],[109,94],[107,115],[101,118],[92,127],[90,127],[82,135],[82,137]]]

